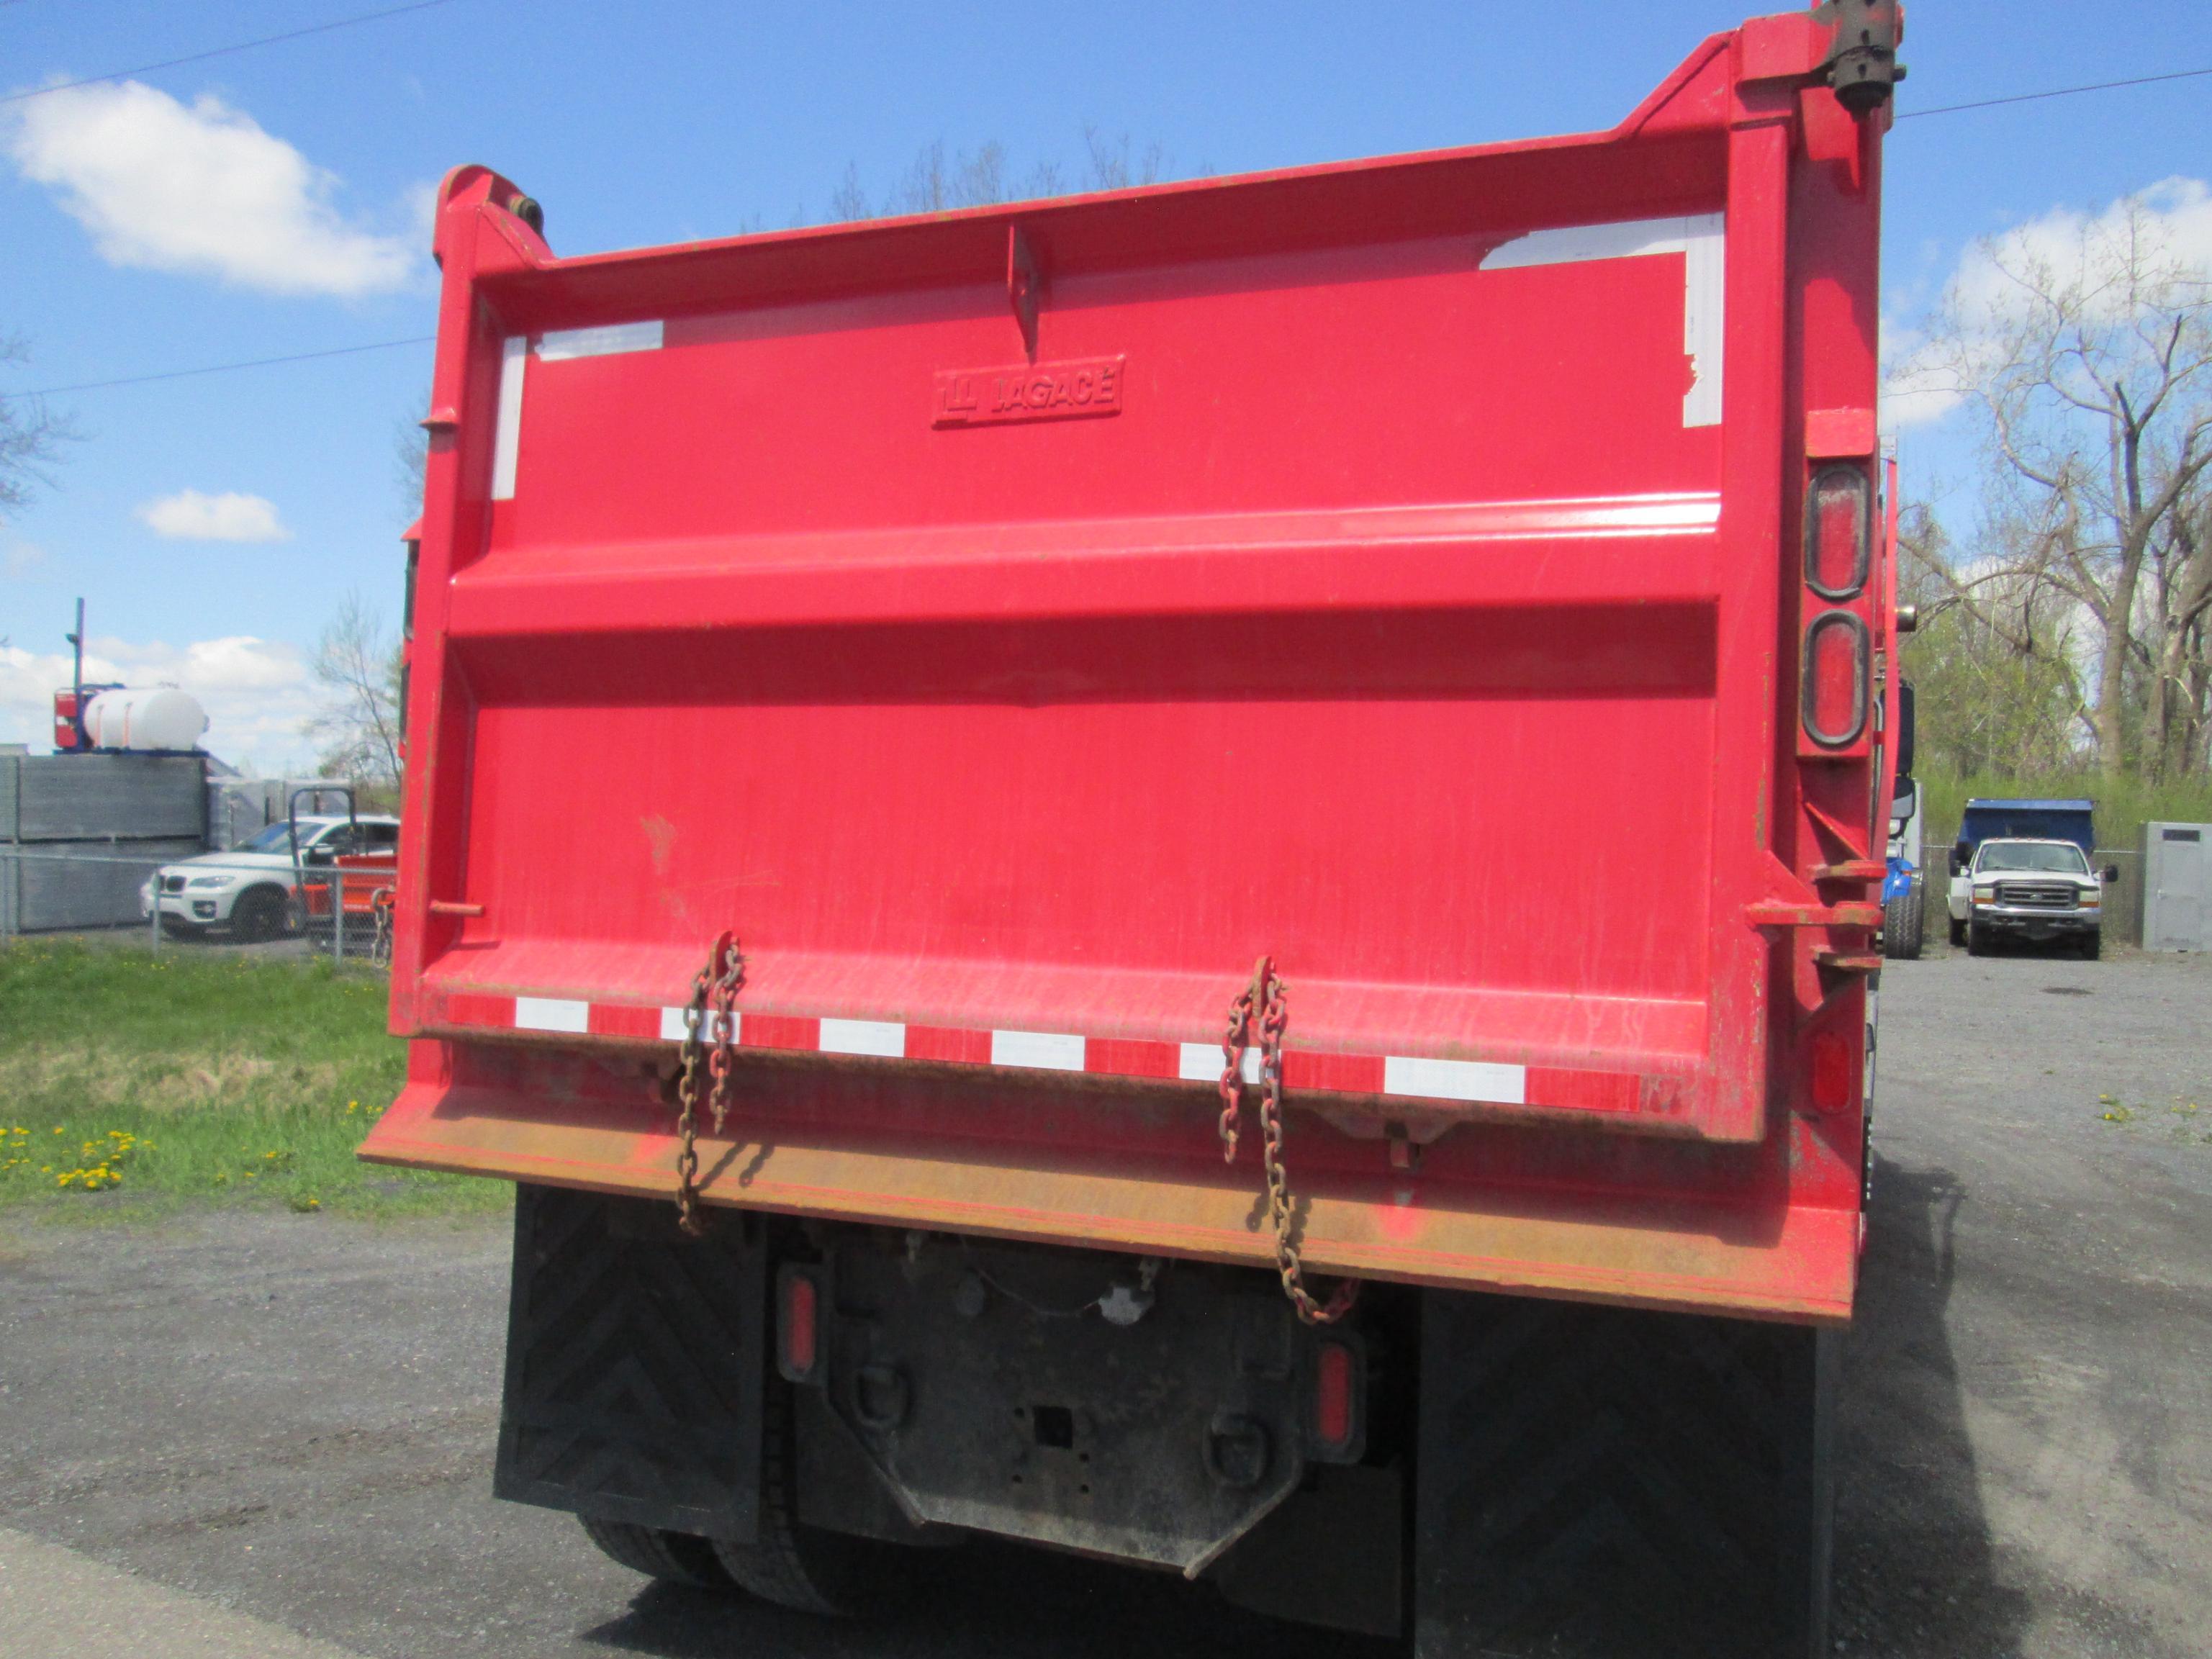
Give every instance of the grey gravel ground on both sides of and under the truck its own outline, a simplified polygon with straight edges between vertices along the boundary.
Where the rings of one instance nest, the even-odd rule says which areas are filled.
[[[2201,1655],[2212,958],[1938,956],[1885,980],[1838,1646]],[[1387,1652],[991,1546],[896,1628],[644,1586],[568,1517],[489,1495],[504,1267],[478,1223],[0,1232],[0,1528],[378,1659]],[[11,1595],[53,1559],[20,1555]],[[115,1652],[170,1650],[139,1637]]]

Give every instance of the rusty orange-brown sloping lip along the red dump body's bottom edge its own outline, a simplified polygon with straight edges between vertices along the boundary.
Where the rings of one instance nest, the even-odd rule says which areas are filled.
[[[440,1113],[442,1104],[442,1088],[409,1086],[361,1157],[633,1197],[675,1192],[664,1133]],[[1006,1148],[993,1152],[967,1159],[958,1148],[763,1148],[701,1137],[701,1192],[708,1203],[783,1214],[1241,1265],[1274,1261],[1254,1166],[1130,1177],[1009,1164]],[[1528,1214],[1526,1194],[1493,1197],[1495,1208],[1440,1210],[1321,1194],[1301,1206],[1301,1250],[1318,1274],[1801,1323],[1851,1316],[1854,1214],[1792,1208],[1765,1237],[1730,1241],[1699,1228],[1697,1217],[1668,1223],[1639,1217],[1628,1201],[1546,1197],[1544,1212]],[[1506,1208],[1515,1197],[1522,1212]]]

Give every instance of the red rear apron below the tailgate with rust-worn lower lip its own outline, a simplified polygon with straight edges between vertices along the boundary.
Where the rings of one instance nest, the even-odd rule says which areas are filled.
[[[637,1082],[615,1104],[580,1097],[573,1084],[564,1093],[518,1046],[478,1053],[465,1066],[476,1073],[469,1082],[429,1075],[442,1048],[416,1044],[416,1079],[361,1157],[675,1194],[675,1110],[650,1064],[619,1066]],[[511,1066],[504,1082],[495,1079],[502,1062]],[[593,1071],[613,1079],[617,1062]],[[1188,1091],[1190,1102],[1170,1091],[1053,1097],[1009,1082],[978,1115],[995,1135],[958,1121],[962,1104],[975,1102],[969,1082],[823,1082],[761,1068],[732,1093],[739,1106],[723,1135],[701,1121],[699,1186],[710,1203],[1237,1265],[1274,1261],[1259,1137],[1248,1135],[1225,1166],[1212,1135],[1217,1106],[1199,1091]],[[1719,1148],[1484,1124],[1455,1130],[1427,1148],[1418,1172],[1398,1175],[1383,1141],[1349,1139],[1294,1113],[1287,1166],[1316,1274],[1845,1321],[1858,1270],[1858,1155],[1847,1155],[1851,1179],[1812,1201],[1787,1183],[1838,1148],[1798,1117],[1787,1141]],[[1520,1179],[1484,1179],[1509,1166]],[[1582,1179],[1559,1179],[1575,1166]],[[1686,1183],[1701,1179],[1705,1194],[1686,1197]]]

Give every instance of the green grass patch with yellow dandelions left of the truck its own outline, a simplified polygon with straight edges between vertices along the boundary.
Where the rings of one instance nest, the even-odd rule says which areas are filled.
[[[504,1208],[504,1181],[354,1159],[407,1068],[385,993],[325,958],[0,949],[0,1208]]]

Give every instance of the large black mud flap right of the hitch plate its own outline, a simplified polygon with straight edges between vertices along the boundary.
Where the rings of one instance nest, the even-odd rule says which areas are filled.
[[[1418,1659],[1827,1652],[1840,1332],[1422,1298]]]

